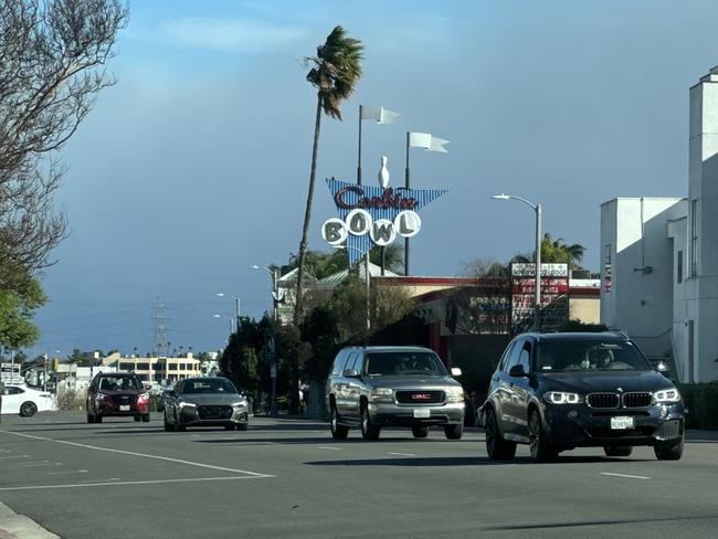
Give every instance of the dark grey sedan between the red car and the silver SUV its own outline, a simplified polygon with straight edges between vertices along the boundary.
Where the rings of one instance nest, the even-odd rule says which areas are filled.
[[[246,395],[226,378],[186,378],[175,384],[165,402],[165,430],[183,431],[188,426],[224,426],[246,431]]]

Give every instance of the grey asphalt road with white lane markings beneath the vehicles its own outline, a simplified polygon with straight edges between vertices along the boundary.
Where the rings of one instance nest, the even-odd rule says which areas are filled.
[[[72,412],[4,415],[0,501],[68,539],[714,538],[718,441],[693,437],[678,462],[641,447],[537,465],[526,447],[489,461],[479,430],[337,442],[307,420],[167,433],[159,414],[93,425]]]

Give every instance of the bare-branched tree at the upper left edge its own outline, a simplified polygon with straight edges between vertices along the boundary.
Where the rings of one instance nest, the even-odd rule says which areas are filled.
[[[0,289],[51,264],[66,220],[52,158],[114,80],[119,0],[0,0]]]

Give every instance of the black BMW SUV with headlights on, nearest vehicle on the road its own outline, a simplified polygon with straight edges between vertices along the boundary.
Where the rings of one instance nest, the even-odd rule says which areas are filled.
[[[488,456],[511,459],[524,443],[534,462],[576,447],[629,456],[636,445],[653,446],[658,459],[678,459],[684,405],[661,370],[620,332],[519,335],[479,410]]]

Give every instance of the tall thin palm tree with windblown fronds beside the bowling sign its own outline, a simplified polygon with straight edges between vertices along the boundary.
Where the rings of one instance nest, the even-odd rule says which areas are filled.
[[[306,64],[312,65],[309,73],[307,73],[307,81],[317,88],[317,114],[314,124],[309,192],[307,193],[304,229],[302,230],[302,242],[299,243],[299,271],[297,273],[297,292],[294,306],[295,324],[299,324],[302,318],[302,286],[304,284],[304,264],[309,241],[309,221],[312,219],[312,200],[317,171],[321,110],[327,116],[341,120],[341,110],[339,108],[341,102],[353,93],[355,85],[361,78],[362,50],[361,41],[349,38],[344,28],[336,27],[327,36],[327,41],[317,47],[317,55],[304,59]]]

